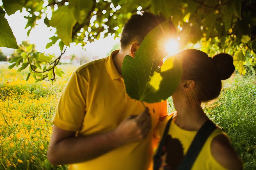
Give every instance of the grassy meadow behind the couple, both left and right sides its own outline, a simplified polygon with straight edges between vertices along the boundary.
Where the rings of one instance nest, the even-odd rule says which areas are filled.
[[[26,82],[27,71],[16,72],[0,65],[0,169],[66,169],[52,166],[47,147],[51,118],[58,97],[73,66],[61,66],[65,75],[49,82]],[[243,159],[244,168],[256,169],[255,75],[234,75],[223,82],[220,97],[205,103],[205,112],[230,137]],[[168,105],[173,111],[172,100]]]

